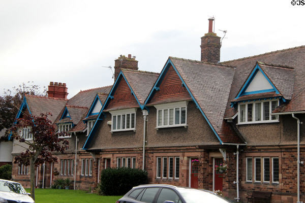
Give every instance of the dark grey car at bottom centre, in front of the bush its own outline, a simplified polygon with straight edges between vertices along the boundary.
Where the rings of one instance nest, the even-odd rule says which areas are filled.
[[[133,187],[116,203],[228,203],[230,201],[209,190],[173,185],[139,185]]]

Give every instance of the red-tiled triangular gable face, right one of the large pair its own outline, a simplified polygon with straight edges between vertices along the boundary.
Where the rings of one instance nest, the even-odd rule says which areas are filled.
[[[188,90],[182,86],[182,81],[172,65],[170,65],[163,80],[161,81],[161,84],[159,85],[159,90],[155,91],[155,94],[147,105],[190,99],[192,98]]]

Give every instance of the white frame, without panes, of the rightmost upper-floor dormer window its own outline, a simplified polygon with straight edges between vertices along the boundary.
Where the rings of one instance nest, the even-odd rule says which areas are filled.
[[[264,105],[263,103],[266,102],[266,101],[269,101],[269,120],[264,120]],[[275,120],[272,120],[272,116],[271,116],[271,113],[272,113],[272,101],[278,101],[278,106],[279,106],[279,99],[261,99],[261,100],[255,100],[255,101],[241,101],[238,103],[238,119],[237,119],[237,124],[238,125],[242,125],[242,124],[252,124],[252,123],[275,123],[275,122],[279,122],[279,116],[277,116],[277,119]],[[261,120],[260,121],[255,121],[255,104],[256,103],[261,103],[261,112],[260,112],[260,115],[261,115]],[[253,104],[252,105],[252,111],[253,111],[253,120],[252,121],[248,121],[248,104]],[[240,105],[245,105],[245,110],[246,110],[246,113],[245,113],[245,122],[241,122],[240,121]],[[277,107],[278,107],[277,106]]]

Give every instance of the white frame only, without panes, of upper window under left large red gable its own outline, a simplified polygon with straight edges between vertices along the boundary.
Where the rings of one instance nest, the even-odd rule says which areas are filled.
[[[131,108],[131,109],[123,109],[123,110],[115,110],[115,111],[109,111],[111,114],[111,131],[110,132],[117,132],[117,131],[130,131],[130,130],[136,130],[136,117],[137,117],[137,108]],[[130,122],[129,122],[129,128],[127,128],[127,115],[130,115]],[[131,115],[134,114],[134,127],[131,126],[132,120]],[[123,115],[125,115],[125,128],[123,128]],[[115,116],[116,122],[115,122],[115,129],[113,129],[113,117]],[[120,129],[117,129],[118,122],[117,122],[117,116],[120,116]]]

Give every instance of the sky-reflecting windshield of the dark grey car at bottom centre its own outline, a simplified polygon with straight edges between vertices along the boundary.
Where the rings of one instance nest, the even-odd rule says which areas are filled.
[[[213,203],[228,203],[230,201],[206,191],[195,190],[195,189],[178,189],[181,196],[188,203],[199,203],[199,202],[213,202]]]

